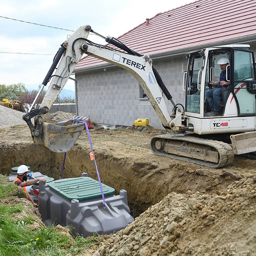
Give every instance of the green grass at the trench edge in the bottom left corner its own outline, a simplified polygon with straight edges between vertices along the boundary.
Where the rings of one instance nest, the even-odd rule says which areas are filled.
[[[25,206],[10,202],[3,203],[11,195],[24,196],[17,186],[0,175],[0,256],[72,256],[82,253],[98,241],[98,238],[66,236],[54,231],[54,226],[31,230],[34,217],[19,212],[26,212]],[[31,205],[32,207],[32,205]]]

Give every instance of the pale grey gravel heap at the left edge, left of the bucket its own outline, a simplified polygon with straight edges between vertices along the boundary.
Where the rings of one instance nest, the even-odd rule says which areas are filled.
[[[22,119],[24,114],[25,113],[0,105],[0,128],[18,124],[26,124],[26,122]]]

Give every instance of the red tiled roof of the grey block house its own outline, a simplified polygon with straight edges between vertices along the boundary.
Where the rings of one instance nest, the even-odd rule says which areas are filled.
[[[141,54],[170,52],[255,35],[255,12],[255,0],[199,0],[158,13],[118,39]],[[105,63],[86,56],[76,70]]]

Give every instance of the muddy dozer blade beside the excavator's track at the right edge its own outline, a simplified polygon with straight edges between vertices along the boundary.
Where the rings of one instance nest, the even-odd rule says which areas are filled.
[[[235,155],[256,151],[256,132],[245,132],[230,135],[230,140]]]

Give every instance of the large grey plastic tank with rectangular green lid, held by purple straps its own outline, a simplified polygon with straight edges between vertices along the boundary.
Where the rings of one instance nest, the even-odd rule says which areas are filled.
[[[115,189],[102,184],[106,204],[103,205],[99,182],[86,177],[39,182],[39,212],[49,226],[72,225],[73,233],[84,237],[110,234],[134,221],[130,215],[126,190],[114,195]]]

